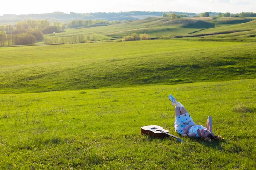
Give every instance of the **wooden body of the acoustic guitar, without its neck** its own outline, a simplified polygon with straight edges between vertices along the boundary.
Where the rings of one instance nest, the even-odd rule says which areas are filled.
[[[150,136],[154,136],[157,138],[166,138],[169,136],[169,135],[166,135],[166,134],[160,132],[159,130],[169,133],[169,130],[165,130],[161,126],[150,125],[150,126],[141,127],[141,134],[150,135]]]

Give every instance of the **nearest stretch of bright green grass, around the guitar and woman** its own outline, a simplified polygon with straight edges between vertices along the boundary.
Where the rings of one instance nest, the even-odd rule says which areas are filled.
[[[175,133],[173,94],[221,142]],[[255,169],[256,79],[0,95],[0,169]],[[249,109],[249,110],[248,110]]]

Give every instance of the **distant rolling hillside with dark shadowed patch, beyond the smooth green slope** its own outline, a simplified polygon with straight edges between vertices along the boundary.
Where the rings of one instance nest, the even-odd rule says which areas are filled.
[[[92,28],[78,27],[67,29],[55,37],[70,37],[89,35],[95,40],[121,40],[123,36],[149,34],[156,36],[183,38],[211,38],[230,40],[237,37],[240,40],[255,41],[256,20],[254,18],[237,17],[190,17],[171,20],[169,17],[148,17],[142,20],[117,23],[107,26],[93,26]],[[49,38],[52,35],[46,35]]]

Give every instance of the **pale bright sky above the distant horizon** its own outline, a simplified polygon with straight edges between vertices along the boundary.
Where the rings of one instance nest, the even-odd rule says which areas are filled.
[[[256,0],[3,0],[0,15],[42,14],[52,12],[255,12]]]

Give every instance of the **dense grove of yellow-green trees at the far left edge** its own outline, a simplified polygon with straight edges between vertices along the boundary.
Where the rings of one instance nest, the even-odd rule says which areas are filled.
[[[27,45],[44,40],[43,34],[64,31],[62,22],[28,20],[15,25],[0,25],[0,46]]]

